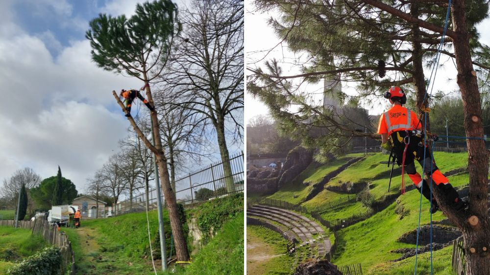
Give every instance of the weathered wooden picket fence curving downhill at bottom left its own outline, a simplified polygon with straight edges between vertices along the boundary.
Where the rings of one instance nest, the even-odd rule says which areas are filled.
[[[14,227],[15,221],[2,220],[0,221],[0,226]],[[32,234],[40,234],[49,244],[60,249],[63,260],[59,274],[66,274],[68,267],[70,267],[70,275],[75,274],[75,254],[73,253],[72,244],[65,232],[60,231],[58,225],[49,225],[49,222],[41,215],[34,222],[19,221],[18,227],[32,229]]]

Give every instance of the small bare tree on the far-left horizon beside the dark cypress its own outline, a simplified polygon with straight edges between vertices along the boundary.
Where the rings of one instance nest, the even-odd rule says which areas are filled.
[[[6,206],[16,207],[22,184],[25,184],[25,188],[30,189],[39,185],[40,182],[41,177],[32,168],[19,169],[12,176],[3,180],[3,186],[0,188],[0,198],[4,200]]]

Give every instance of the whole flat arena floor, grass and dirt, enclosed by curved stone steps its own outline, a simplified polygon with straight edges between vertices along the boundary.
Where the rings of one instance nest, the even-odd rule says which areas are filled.
[[[285,254],[287,241],[277,232],[247,226],[247,274],[293,274],[294,259]]]

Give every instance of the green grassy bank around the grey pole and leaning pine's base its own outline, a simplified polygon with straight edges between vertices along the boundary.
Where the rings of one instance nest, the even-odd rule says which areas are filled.
[[[226,202],[224,202],[226,203]],[[198,206],[199,207],[199,206]],[[148,212],[151,239],[154,240],[158,231],[157,211]],[[220,236],[219,244],[222,246],[221,254],[233,255],[232,258],[222,257],[221,263],[226,265],[233,272],[241,268],[243,274],[243,214],[239,218],[234,218],[235,222],[223,225],[224,233],[221,231],[216,237]],[[237,221],[241,222],[240,225]],[[149,256],[148,235],[147,235],[147,219],[146,213],[130,213],[122,216],[112,217],[108,219],[85,220],[82,221],[83,229],[90,233],[90,237],[85,235],[80,236],[80,229],[64,229],[72,241],[73,251],[75,253],[75,261],[77,265],[77,274],[151,274],[153,271],[151,258]],[[167,232],[170,231],[170,222],[167,211],[164,209],[164,227]],[[87,234],[85,231],[83,234]],[[221,235],[222,234],[222,235]],[[241,240],[240,240],[241,238]],[[90,247],[86,246],[86,240],[93,240],[94,244]],[[170,243],[170,238],[167,239]],[[226,244],[226,245],[225,245]],[[202,251],[199,251],[192,266],[193,269],[201,264],[211,265],[213,262],[218,264],[216,255],[218,251],[213,253],[204,249],[210,244],[204,246]],[[94,247],[96,249],[94,250]],[[213,247],[213,246],[212,246]],[[218,245],[215,242],[212,249],[218,250]],[[242,260],[237,262],[239,255],[237,249],[241,249]],[[167,249],[170,254],[170,250]],[[173,254],[175,250],[173,249]],[[202,255],[201,255],[202,254]],[[226,262],[228,261],[228,262]],[[96,266],[97,269],[94,269]],[[157,271],[161,268],[157,267]],[[205,272],[205,271],[203,271]],[[178,274],[187,274],[187,269],[179,270]],[[206,274],[206,273],[200,273]],[[209,273],[208,273],[209,274]],[[234,274],[234,273],[230,273]]]

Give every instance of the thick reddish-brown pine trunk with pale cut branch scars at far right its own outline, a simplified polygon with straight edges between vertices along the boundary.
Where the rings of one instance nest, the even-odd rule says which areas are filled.
[[[476,72],[471,63],[465,1],[454,0],[451,10],[453,30],[456,32],[456,37],[453,37],[454,52],[458,69],[457,82],[463,98],[465,133],[467,137],[483,138],[481,99]],[[488,151],[482,139],[467,139],[466,144],[468,146],[469,213],[464,217],[459,213],[448,213],[447,211],[446,213],[451,220],[459,221],[459,227],[463,229],[466,275],[488,274],[490,270],[490,225],[487,203]],[[463,219],[468,218],[468,214],[478,218],[475,226],[471,226],[466,219]]]

